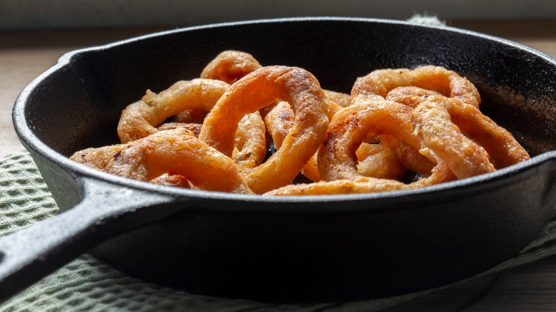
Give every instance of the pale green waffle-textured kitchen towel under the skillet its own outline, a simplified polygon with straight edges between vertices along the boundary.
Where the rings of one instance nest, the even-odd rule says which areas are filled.
[[[28,152],[0,160],[0,235],[15,232],[57,213],[56,202]],[[556,254],[554,215],[537,239],[518,256],[481,276],[553,254]],[[150,284],[83,254],[1,304],[0,311],[379,311],[436,290],[351,303],[274,305],[193,295]]]

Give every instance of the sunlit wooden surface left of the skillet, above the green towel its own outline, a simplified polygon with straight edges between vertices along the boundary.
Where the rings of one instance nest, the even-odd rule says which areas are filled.
[[[0,32],[0,157],[20,152],[11,109],[27,84],[63,53],[159,31],[161,28]]]

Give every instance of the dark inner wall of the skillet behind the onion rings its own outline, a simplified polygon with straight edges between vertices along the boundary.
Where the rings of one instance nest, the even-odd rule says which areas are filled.
[[[83,51],[52,77],[63,85],[51,83],[50,90],[34,94],[32,102],[41,105],[29,106],[26,118],[41,129],[39,139],[63,155],[117,142],[114,129],[126,105],[146,89],[158,92],[177,80],[198,77],[225,49],[252,53],[263,65],[306,68],[323,88],[346,93],[357,77],[377,68],[445,66],[478,86],[485,113],[515,133],[532,155],[556,149],[547,135],[556,125],[550,105],[556,96],[553,63],[517,44],[473,33],[372,21],[239,24]],[[53,101],[64,105],[46,105]]]

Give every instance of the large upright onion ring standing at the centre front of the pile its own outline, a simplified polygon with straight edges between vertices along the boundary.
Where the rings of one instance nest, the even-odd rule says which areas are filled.
[[[245,172],[245,180],[257,194],[293,182],[326,139],[329,105],[319,81],[302,68],[259,68],[230,87],[205,118],[199,135],[210,146],[232,155],[233,133],[242,116],[277,98],[292,105],[294,125],[274,155]]]

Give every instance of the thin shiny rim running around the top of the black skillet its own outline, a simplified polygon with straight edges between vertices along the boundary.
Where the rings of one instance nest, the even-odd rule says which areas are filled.
[[[144,41],[148,38],[168,36],[173,33],[182,33],[187,31],[197,31],[209,28],[221,28],[221,27],[232,27],[240,25],[252,25],[252,24],[274,24],[274,23],[295,23],[298,21],[351,21],[351,22],[361,22],[361,23],[375,23],[375,24],[398,24],[411,27],[421,27],[421,28],[435,28],[439,31],[448,31],[453,33],[460,33],[465,36],[472,36],[483,38],[488,41],[495,41],[499,44],[512,46],[525,53],[531,53],[538,58],[544,58],[548,63],[552,63],[556,67],[556,58],[546,55],[540,51],[533,48],[525,46],[521,43],[516,43],[505,38],[499,38],[496,36],[490,36],[484,33],[478,33],[475,31],[468,31],[461,28],[454,28],[451,26],[435,26],[428,24],[416,24],[408,21],[398,21],[392,19],[374,19],[374,18],[355,18],[355,17],[338,17],[338,16],[314,16],[314,17],[293,17],[293,18],[279,18],[279,19],[255,19],[249,21],[233,21],[226,23],[217,24],[206,24],[200,26],[189,26],[184,28],[176,28],[167,31],[158,31],[155,33],[149,33],[142,36],[135,36],[133,38],[127,38],[120,41],[115,41],[112,43],[103,44],[101,46],[91,46],[87,48],[80,48],[74,51],[68,51],[64,53],[60,58],[58,58],[57,63],[48,68],[45,72],[41,73],[38,77],[31,81],[24,90],[21,91],[20,95],[14,103],[14,108],[12,110],[12,118],[14,122],[14,129],[19,137],[19,140],[24,144],[27,150],[32,150],[46,160],[53,162],[58,169],[68,172],[73,179],[79,184],[81,190],[83,191],[84,183],[83,179],[90,178],[98,182],[110,182],[118,187],[128,187],[131,189],[143,190],[146,192],[152,192],[155,194],[165,194],[170,195],[177,199],[225,199],[225,200],[235,200],[240,202],[272,202],[272,203],[319,203],[319,202],[360,202],[360,201],[372,201],[376,202],[381,206],[380,202],[414,202],[420,199],[427,199],[428,197],[433,197],[437,200],[446,199],[447,197],[464,197],[467,194],[475,193],[479,188],[482,192],[486,192],[492,187],[497,187],[498,184],[503,183],[505,180],[513,175],[520,175],[523,172],[532,170],[535,167],[542,165],[544,162],[549,162],[556,160],[556,150],[543,152],[540,155],[531,157],[530,160],[525,162],[520,162],[516,165],[506,167],[495,172],[490,172],[483,175],[478,175],[475,177],[466,178],[463,180],[456,180],[453,182],[444,182],[441,184],[432,185],[429,187],[423,187],[420,189],[409,189],[409,190],[398,190],[398,191],[388,191],[388,192],[376,192],[376,193],[363,193],[363,194],[336,194],[336,195],[304,195],[304,196],[278,196],[278,197],[261,197],[260,195],[252,194],[233,194],[226,192],[212,192],[212,191],[197,191],[192,189],[181,189],[177,187],[169,187],[151,184],[149,182],[141,182],[137,180],[132,180],[125,177],[118,177],[116,175],[110,175],[106,172],[101,172],[99,170],[94,170],[85,165],[78,164],[69,160],[68,157],[61,155],[61,153],[53,150],[51,147],[46,145],[45,142],[38,139],[34,131],[31,130],[27,120],[25,118],[25,108],[28,102],[29,95],[36,91],[38,85],[48,76],[59,71],[65,66],[69,66],[73,61],[75,56],[81,53],[98,52],[104,51],[115,46],[122,46],[128,43],[133,43],[136,41]],[[287,205],[284,205],[287,207]],[[314,205],[310,205],[314,206]],[[328,205],[330,207],[330,205]],[[339,206],[338,206],[339,207]],[[380,209],[381,207],[362,207],[362,209]],[[299,207],[297,207],[299,209]],[[327,208],[330,209],[330,208]],[[339,207],[338,209],[332,209],[334,211],[345,211],[345,207]],[[354,208],[350,208],[353,211]],[[359,209],[358,209],[359,210]]]

